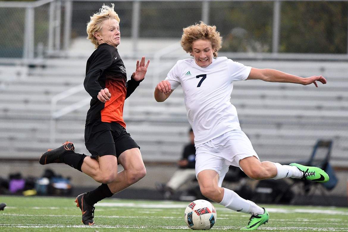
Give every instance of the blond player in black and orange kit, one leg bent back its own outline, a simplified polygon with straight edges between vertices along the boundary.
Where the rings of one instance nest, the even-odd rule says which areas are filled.
[[[48,150],[40,164],[65,163],[102,183],[95,190],[80,194],[77,207],[82,222],[94,224],[94,204],[136,183],[146,174],[140,147],[126,131],[123,107],[144,79],[150,60],[136,63],[136,70],[127,81],[124,63],[117,51],[120,44],[120,18],[112,7],[103,5],[90,17],[88,39],[96,48],[87,60],[84,86],[92,96],[85,126],[85,145],[91,156],[74,152],[72,142]],[[118,173],[117,165],[124,168]]]

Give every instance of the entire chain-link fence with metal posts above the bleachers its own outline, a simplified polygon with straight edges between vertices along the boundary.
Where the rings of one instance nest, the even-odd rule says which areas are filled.
[[[100,0],[0,1],[1,58],[28,61],[64,56],[71,40],[86,37]],[[348,1],[118,0],[122,37],[180,38],[204,21],[223,36],[222,52],[331,54],[347,59]],[[110,4],[110,3],[106,3]],[[335,56],[332,56],[334,54]],[[260,56],[259,56],[260,57]]]

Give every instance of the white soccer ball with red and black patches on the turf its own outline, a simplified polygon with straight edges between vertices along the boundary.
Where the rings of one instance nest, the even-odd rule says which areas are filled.
[[[195,200],[186,207],[184,217],[192,230],[209,230],[215,224],[216,210],[209,201]]]

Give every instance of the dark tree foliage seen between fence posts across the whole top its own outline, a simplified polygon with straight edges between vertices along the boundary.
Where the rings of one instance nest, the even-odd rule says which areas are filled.
[[[89,16],[103,3],[73,1],[72,37],[87,36]],[[121,36],[132,36],[133,2],[113,3],[121,18]],[[211,1],[208,24],[216,25],[223,37],[221,51],[271,52],[273,5],[273,1]],[[182,29],[198,23],[202,17],[201,1],[142,1],[140,9],[140,38],[180,39]],[[14,54],[16,48],[20,54],[24,8],[2,8],[0,13],[3,16],[0,32],[4,35],[1,50]],[[280,13],[279,52],[347,54],[347,0],[281,1]],[[64,25],[63,19],[61,25]],[[43,41],[47,39],[47,22],[48,4],[35,9],[35,44],[38,44],[37,38],[42,40],[42,44],[47,44]]]

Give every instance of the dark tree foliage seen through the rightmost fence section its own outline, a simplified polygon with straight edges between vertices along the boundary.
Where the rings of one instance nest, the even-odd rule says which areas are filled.
[[[347,53],[347,2],[284,2],[281,52]]]

